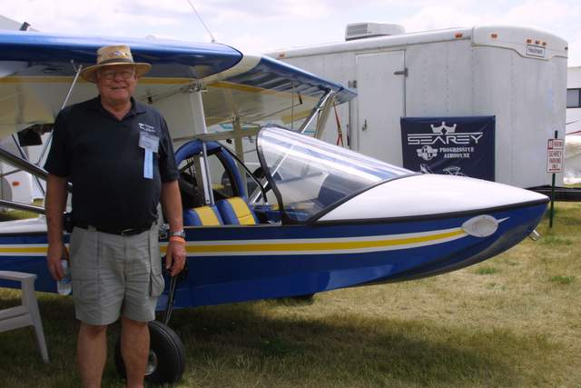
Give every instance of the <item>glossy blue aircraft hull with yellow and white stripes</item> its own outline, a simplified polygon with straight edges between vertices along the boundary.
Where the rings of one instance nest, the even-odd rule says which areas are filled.
[[[546,203],[533,203],[364,223],[189,227],[189,271],[177,286],[175,306],[278,298],[444,274],[518,244],[546,209]],[[467,234],[462,225],[482,214],[499,221],[496,232],[486,237]],[[0,234],[0,270],[37,274],[36,290],[55,292],[45,253],[43,232]],[[158,308],[164,308],[166,295]]]

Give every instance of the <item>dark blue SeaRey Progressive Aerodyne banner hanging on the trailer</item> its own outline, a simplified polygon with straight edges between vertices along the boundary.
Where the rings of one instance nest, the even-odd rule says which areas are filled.
[[[403,166],[495,179],[495,116],[402,117]]]

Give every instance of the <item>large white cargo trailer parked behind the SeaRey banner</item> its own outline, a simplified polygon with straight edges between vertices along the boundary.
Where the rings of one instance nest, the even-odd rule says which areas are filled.
[[[269,55],[357,91],[339,108],[350,148],[402,165],[400,117],[495,115],[497,182],[550,184],[547,139],[565,135],[564,39],[516,26],[404,34],[359,24],[348,26],[346,40]],[[336,142],[335,120],[323,138]]]

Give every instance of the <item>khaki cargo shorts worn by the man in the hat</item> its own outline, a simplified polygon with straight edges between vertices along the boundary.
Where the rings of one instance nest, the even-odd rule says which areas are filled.
[[[137,322],[155,319],[164,287],[157,224],[127,236],[75,227],[70,252],[78,320],[106,325],[120,314]]]

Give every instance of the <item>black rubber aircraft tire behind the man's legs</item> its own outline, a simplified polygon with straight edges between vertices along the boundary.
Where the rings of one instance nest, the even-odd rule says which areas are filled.
[[[149,383],[177,383],[185,369],[185,352],[182,341],[169,326],[158,321],[149,324],[150,353],[157,360],[157,366],[145,375]],[[121,355],[121,340],[115,343],[115,366],[117,372],[125,378],[125,363]]]

